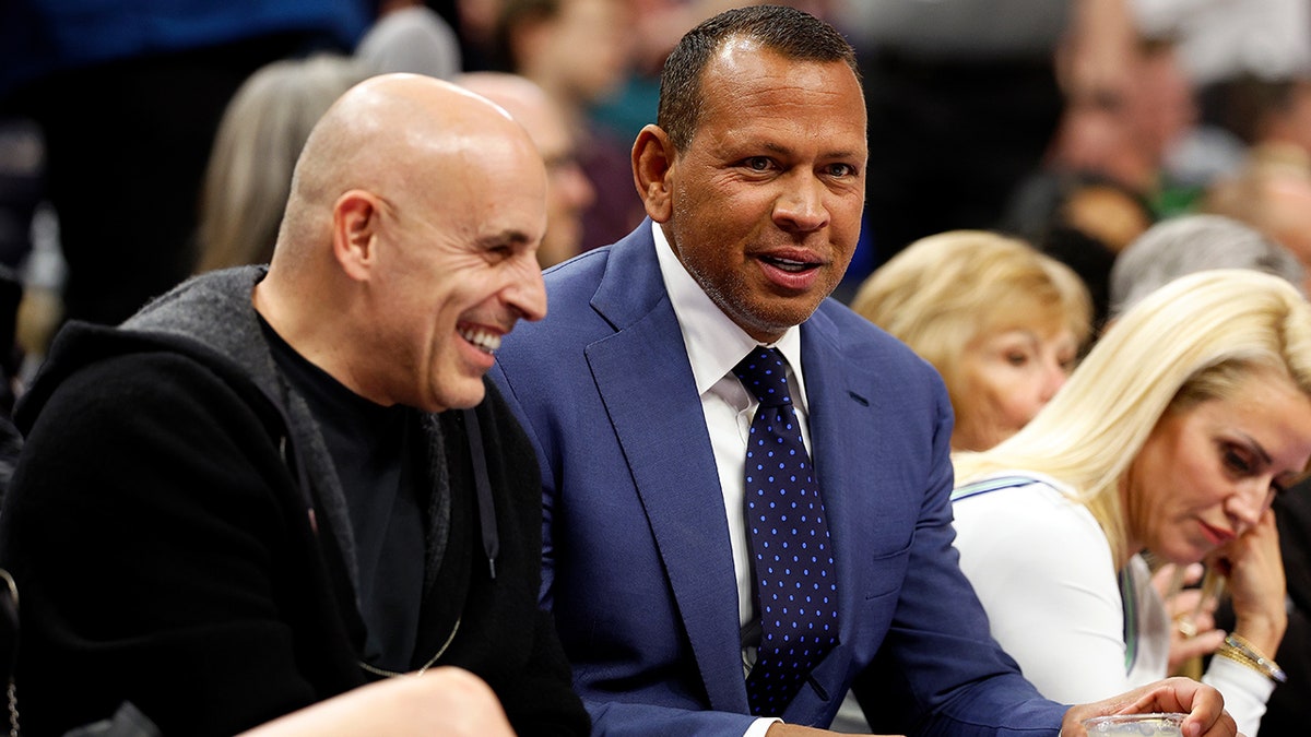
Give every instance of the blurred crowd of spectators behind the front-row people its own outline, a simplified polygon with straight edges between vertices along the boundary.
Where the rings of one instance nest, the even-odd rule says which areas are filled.
[[[451,80],[523,125],[548,172],[543,269],[619,240],[645,216],[631,149],[665,56],[746,4],[7,0],[0,407],[63,323],[118,324],[191,274],[267,262],[311,127],[374,75]],[[1169,279],[1311,289],[1308,0],[772,4],[857,50],[865,207],[835,296],[935,365],[953,451],[1020,431]],[[1285,559],[1304,557],[1307,528],[1285,528],[1304,502],[1280,500]],[[1311,591],[1289,584],[1297,608]],[[1283,641],[1302,650],[1277,656],[1301,673],[1304,619]],[[1262,734],[1303,719],[1298,688]]]

